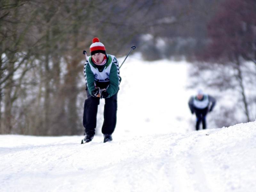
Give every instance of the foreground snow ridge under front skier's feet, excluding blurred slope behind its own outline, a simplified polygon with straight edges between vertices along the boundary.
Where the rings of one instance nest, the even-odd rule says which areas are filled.
[[[1,191],[256,191],[255,127],[84,145],[81,136],[0,135]]]

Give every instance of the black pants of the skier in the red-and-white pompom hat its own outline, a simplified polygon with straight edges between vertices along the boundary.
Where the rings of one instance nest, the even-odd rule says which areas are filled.
[[[87,99],[84,101],[83,125],[86,134],[95,134],[97,123],[99,97],[92,97],[87,90]],[[117,93],[110,98],[105,99],[104,105],[104,121],[101,132],[103,134],[112,134],[116,128],[116,112],[117,112]]]

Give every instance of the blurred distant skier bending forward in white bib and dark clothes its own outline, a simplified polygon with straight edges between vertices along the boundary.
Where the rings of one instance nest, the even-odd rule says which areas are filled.
[[[196,131],[199,130],[199,125],[202,121],[203,129],[206,129],[206,115],[214,108],[216,100],[202,90],[198,90],[196,96],[189,99],[188,106],[192,114],[196,114]]]

